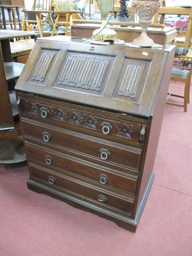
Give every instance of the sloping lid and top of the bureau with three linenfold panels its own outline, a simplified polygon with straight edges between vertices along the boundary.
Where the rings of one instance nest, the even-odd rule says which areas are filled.
[[[36,40],[15,90],[139,116],[153,115],[170,79],[174,46],[163,49]]]

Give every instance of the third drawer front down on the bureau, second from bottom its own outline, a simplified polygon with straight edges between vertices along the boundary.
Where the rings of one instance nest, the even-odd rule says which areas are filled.
[[[90,180],[96,182],[97,186],[103,186],[106,189],[120,189],[122,191],[135,195],[138,177],[136,175],[125,175],[125,173],[116,173],[115,170],[104,168],[99,164],[93,164],[88,161],[77,159],[60,152],[54,152],[48,148],[26,141],[26,155],[28,161],[47,165],[47,168],[59,168],[62,173],[73,173],[81,175],[87,182]],[[120,175],[121,174],[121,175]],[[76,177],[79,179],[79,176]]]

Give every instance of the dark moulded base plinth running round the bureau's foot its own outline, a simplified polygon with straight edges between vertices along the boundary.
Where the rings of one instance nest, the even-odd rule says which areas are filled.
[[[147,188],[145,189],[145,193],[143,194],[143,198],[141,200],[140,207],[138,207],[138,211],[136,212],[136,217],[134,219],[127,216],[127,214],[123,214],[122,212],[115,210],[109,211],[109,209],[106,209],[105,207],[98,207],[97,204],[94,204],[85,198],[81,198],[79,195],[74,195],[70,192],[56,189],[47,184],[42,184],[41,182],[38,182],[34,179],[28,179],[27,185],[28,189],[35,191],[36,193],[44,193],[45,195],[51,196],[52,198],[66,202],[67,204],[72,205],[77,209],[92,212],[93,214],[97,214],[106,220],[113,221],[116,223],[116,225],[118,225],[118,227],[124,228],[125,230],[136,232],[136,228],[138,227],[138,223],[140,221],[140,217],[143,212],[143,208],[145,206],[145,202],[147,200],[147,196],[152,186],[153,180],[154,173],[152,173],[150,176]]]

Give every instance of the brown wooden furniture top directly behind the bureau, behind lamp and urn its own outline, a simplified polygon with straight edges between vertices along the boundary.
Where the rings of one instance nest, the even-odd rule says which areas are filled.
[[[75,37],[91,37],[95,29],[100,28],[98,24],[76,24],[71,27],[71,34]],[[141,35],[141,27],[115,27],[116,35],[125,42],[132,42]],[[154,40],[156,44],[173,44],[177,31],[175,28],[148,28],[148,36]]]

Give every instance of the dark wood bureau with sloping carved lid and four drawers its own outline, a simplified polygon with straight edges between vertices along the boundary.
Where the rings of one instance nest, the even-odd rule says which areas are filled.
[[[154,179],[175,46],[69,39],[37,39],[15,87],[28,188],[134,232]]]

